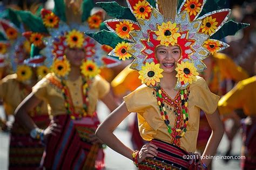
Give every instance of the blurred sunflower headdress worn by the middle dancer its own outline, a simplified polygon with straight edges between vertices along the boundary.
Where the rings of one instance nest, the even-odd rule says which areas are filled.
[[[96,76],[101,66],[112,66],[119,63],[118,59],[107,57],[107,53],[102,50],[102,45],[85,35],[85,32],[99,30],[100,23],[103,21],[102,11],[90,15],[93,7],[92,0],[55,0],[53,11],[41,10],[41,18],[38,22],[45,31],[35,30],[25,33],[25,36],[35,46],[44,46],[41,54],[46,56],[48,66],[51,66],[52,71],[60,78],[66,77],[70,71],[69,62],[64,56],[67,47],[84,49],[85,58],[81,72],[88,78]],[[33,17],[24,11],[19,15],[21,18]]]

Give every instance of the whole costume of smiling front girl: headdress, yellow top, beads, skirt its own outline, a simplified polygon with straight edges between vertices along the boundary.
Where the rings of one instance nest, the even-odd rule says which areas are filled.
[[[130,112],[138,112],[142,137],[151,142],[155,139],[167,142],[193,153],[196,149],[200,110],[206,114],[213,113],[219,99],[211,93],[206,82],[197,77],[198,72],[206,69],[202,60],[210,52],[228,47],[217,39],[232,35],[247,25],[232,21],[226,23],[231,11],[221,9],[219,1],[180,1],[177,12],[176,1],[126,2],[129,8],[114,2],[99,3],[110,16],[117,19],[105,21],[111,32],[103,30],[87,35],[113,47],[110,56],[123,60],[135,58],[131,69],[139,71],[139,79],[145,85],[124,97],[124,100]],[[113,6],[118,12],[111,10]],[[227,30],[231,25],[234,32]],[[163,77],[163,69],[160,69],[155,56],[155,49],[159,45],[180,47],[181,57],[175,69],[178,81],[174,89],[177,90],[177,96],[174,99],[167,96],[159,84]],[[153,161],[146,159],[138,165],[139,169],[158,169],[163,166],[166,169],[198,169],[197,160],[174,165],[177,160],[169,156],[182,154],[170,152],[158,154]]]

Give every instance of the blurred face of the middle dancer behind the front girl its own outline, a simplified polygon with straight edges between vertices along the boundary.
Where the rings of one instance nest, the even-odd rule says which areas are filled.
[[[71,49],[65,50],[66,58],[69,60],[71,66],[79,67],[82,64],[82,60],[85,58],[85,52],[83,49]]]

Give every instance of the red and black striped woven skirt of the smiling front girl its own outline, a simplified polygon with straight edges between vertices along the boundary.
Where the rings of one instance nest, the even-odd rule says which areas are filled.
[[[158,147],[157,156],[146,158],[139,164],[139,169],[201,169],[197,165],[197,159],[185,159],[191,154],[183,149],[157,139],[150,142]]]

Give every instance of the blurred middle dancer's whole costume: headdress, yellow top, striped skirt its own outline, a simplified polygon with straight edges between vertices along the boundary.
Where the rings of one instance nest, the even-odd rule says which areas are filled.
[[[53,72],[32,91],[48,103],[49,114],[61,126],[61,132],[50,135],[46,141],[41,164],[46,169],[102,169],[105,166],[102,144],[92,144],[89,139],[99,125],[97,100],[110,90],[109,83],[98,74],[102,67],[116,65],[119,60],[107,57],[103,46],[85,35],[98,30],[103,18],[101,11],[90,16],[93,1],[81,3],[56,0],[53,11],[42,9],[41,18],[18,12],[21,18],[29,17],[30,21],[37,22],[37,29],[24,35],[34,44],[36,39],[31,37],[38,37],[36,44],[44,47],[41,54]],[[67,48],[85,52],[80,76],[75,81],[68,77],[71,66],[65,56]]]

